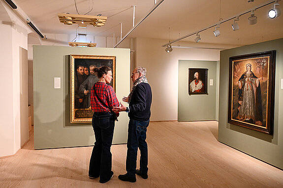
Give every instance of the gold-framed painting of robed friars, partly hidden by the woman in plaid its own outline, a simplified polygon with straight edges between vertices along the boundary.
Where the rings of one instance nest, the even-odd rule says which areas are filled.
[[[91,122],[91,89],[99,79],[95,69],[107,66],[112,69],[111,85],[115,90],[116,56],[70,55],[71,61],[71,123]]]

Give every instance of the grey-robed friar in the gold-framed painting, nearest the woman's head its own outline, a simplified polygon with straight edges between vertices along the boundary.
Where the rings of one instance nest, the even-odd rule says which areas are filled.
[[[79,88],[79,93],[82,95],[85,95],[85,100],[84,100],[84,107],[89,108],[91,106],[91,89],[97,81],[99,81],[98,77],[96,76],[94,70],[97,69],[95,65],[90,66],[90,72],[91,75],[85,80]]]

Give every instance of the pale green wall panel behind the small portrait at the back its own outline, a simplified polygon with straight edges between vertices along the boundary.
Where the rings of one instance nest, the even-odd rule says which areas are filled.
[[[189,95],[189,68],[207,68],[208,95]],[[178,121],[216,120],[217,61],[179,60]],[[213,79],[213,85],[209,80]]]

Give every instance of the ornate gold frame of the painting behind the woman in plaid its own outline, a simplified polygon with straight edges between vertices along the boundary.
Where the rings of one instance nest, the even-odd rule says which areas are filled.
[[[75,76],[76,66],[79,64],[90,66],[94,64],[96,67],[109,66],[112,69],[113,80],[111,85],[114,90],[116,86],[116,56],[105,56],[105,55],[70,55],[70,85],[71,85],[71,123],[86,123],[92,122],[93,111],[90,108],[75,108],[74,93],[75,93]],[[112,64],[112,66],[111,66]],[[78,118],[78,113],[81,114],[82,118]]]

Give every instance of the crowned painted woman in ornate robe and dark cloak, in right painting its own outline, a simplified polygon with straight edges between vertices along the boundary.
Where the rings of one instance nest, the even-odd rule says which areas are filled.
[[[247,121],[252,124],[262,125],[262,105],[261,105],[261,91],[259,81],[252,70],[252,65],[246,65],[247,71],[241,76],[238,81],[239,99],[238,103],[239,113],[238,119],[240,121]]]

